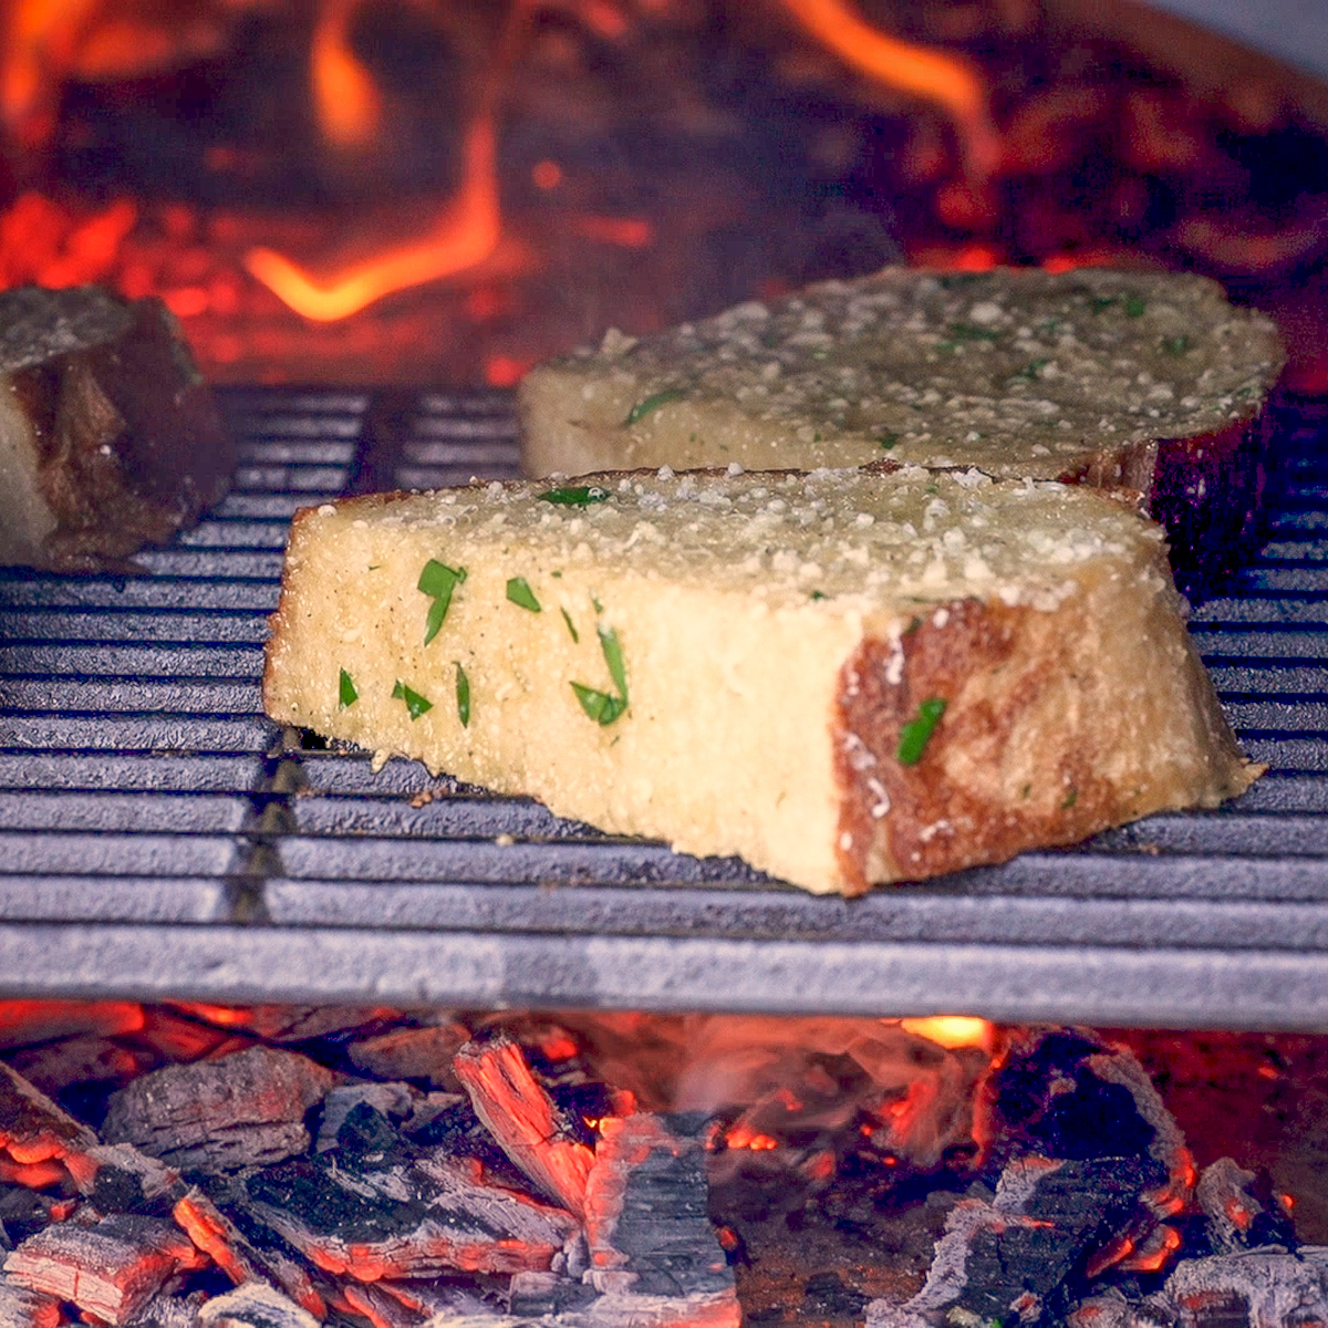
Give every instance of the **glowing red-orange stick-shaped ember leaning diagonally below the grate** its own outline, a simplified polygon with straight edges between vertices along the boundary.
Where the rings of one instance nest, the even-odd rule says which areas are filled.
[[[595,1154],[531,1073],[521,1046],[506,1036],[470,1041],[453,1069],[503,1153],[543,1194],[583,1216]]]

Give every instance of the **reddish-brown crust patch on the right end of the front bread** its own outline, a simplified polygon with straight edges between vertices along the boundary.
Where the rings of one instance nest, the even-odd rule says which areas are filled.
[[[999,765],[1024,709],[1049,679],[1076,664],[1068,649],[1062,657],[1058,637],[1048,633],[1042,644],[1049,648],[1032,659],[1025,652],[1025,663],[1012,665],[1016,641],[1035,610],[963,599],[923,612],[926,620],[900,639],[902,663],[892,643],[867,637],[839,675],[837,851],[847,895],[862,894],[874,879],[920,880],[1005,862],[1029,847],[1076,843],[1122,819],[1117,790],[1084,748],[1068,749],[1040,773],[1040,781],[1056,790],[1049,799],[981,798],[947,778],[942,760],[947,748],[968,753],[975,764]],[[900,730],[916,718],[923,701],[954,703],[968,679],[1007,667],[1019,672],[1000,687],[999,706],[984,697],[951,704],[918,764],[899,761]],[[892,684],[891,677],[899,681]],[[888,810],[874,817],[872,807]]]

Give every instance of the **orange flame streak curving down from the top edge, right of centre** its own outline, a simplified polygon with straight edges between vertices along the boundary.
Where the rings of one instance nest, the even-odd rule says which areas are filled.
[[[975,179],[995,174],[1001,141],[987,108],[981,78],[957,56],[892,37],[874,28],[845,0],[784,0],[803,28],[854,69],[899,92],[936,102],[955,122],[964,166]]]

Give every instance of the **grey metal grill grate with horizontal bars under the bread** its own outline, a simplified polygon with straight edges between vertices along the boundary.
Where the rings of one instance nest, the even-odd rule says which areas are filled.
[[[511,477],[515,424],[503,393],[224,404],[235,489],[150,576],[0,579],[0,991],[1328,1025],[1320,402],[1284,409],[1267,543],[1191,624],[1271,773],[1216,813],[853,902],[264,718],[295,509]]]

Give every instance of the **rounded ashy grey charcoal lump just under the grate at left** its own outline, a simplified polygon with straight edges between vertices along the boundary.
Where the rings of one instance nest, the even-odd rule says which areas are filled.
[[[110,1098],[102,1126],[181,1170],[239,1170],[309,1146],[304,1114],[333,1076],[307,1056],[254,1046],[143,1074]]]

